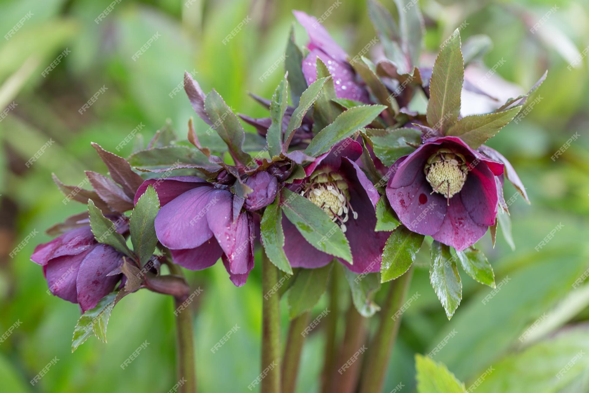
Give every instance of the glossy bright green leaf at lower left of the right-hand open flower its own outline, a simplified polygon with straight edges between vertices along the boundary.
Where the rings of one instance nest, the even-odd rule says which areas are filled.
[[[380,282],[396,279],[409,270],[422,243],[423,235],[409,231],[403,225],[396,227],[382,250]]]

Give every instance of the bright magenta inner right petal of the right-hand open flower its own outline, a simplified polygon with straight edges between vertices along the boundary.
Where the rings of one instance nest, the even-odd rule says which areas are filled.
[[[468,172],[460,191],[462,204],[471,215],[472,221],[479,225],[495,224],[498,201],[495,177],[487,166],[477,165]]]

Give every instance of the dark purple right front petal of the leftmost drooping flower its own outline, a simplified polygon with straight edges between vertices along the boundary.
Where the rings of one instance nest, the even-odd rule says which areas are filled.
[[[119,266],[123,254],[110,245],[98,244],[80,264],[77,290],[82,312],[93,309],[102,297],[111,293],[121,276],[107,276]]]

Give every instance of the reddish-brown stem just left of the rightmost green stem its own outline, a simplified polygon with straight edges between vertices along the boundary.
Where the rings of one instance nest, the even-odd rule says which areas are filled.
[[[363,355],[359,355],[352,365],[344,368],[346,362],[353,360],[360,348],[366,343],[366,319],[354,306],[350,299],[350,306],[346,315],[346,332],[343,336],[342,348],[337,358],[337,363],[332,369],[332,390],[337,393],[353,393],[358,386],[360,366]]]

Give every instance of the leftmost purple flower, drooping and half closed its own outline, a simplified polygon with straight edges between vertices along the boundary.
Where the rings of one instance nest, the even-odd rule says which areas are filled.
[[[126,231],[128,225],[125,222],[119,228],[118,231]],[[37,245],[31,260],[43,267],[51,293],[79,303],[82,312],[93,309],[122,277],[122,274],[107,274],[123,263],[123,254],[110,245],[98,243],[90,225]]]

